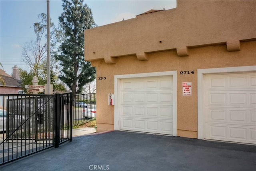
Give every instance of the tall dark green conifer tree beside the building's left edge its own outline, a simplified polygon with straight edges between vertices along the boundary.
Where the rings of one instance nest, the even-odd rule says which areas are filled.
[[[59,17],[65,39],[56,55],[62,66],[59,76],[73,94],[80,94],[83,86],[96,77],[96,69],[84,61],[84,30],[96,27],[91,9],[83,0],[62,0],[64,12]]]

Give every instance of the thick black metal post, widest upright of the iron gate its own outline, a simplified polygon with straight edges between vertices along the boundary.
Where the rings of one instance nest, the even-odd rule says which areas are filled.
[[[54,147],[58,148],[59,147],[59,143],[60,143],[60,94],[56,94],[55,95],[55,127],[54,127],[54,131],[55,131],[55,142],[54,142]]]

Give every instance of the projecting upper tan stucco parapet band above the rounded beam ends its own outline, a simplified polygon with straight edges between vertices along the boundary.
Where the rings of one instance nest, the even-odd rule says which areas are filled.
[[[177,8],[85,31],[86,60],[256,38],[256,1],[177,1]],[[162,41],[162,43],[159,43]]]

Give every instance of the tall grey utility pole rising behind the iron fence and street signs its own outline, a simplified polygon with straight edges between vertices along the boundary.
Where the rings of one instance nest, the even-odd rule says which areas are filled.
[[[46,61],[46,69],[47,69],[47,82],[46,82],[46,94],[52,94],[51,92],[51,68],[50,68],[50,0],[46,0],[47,2],[47,61]]]

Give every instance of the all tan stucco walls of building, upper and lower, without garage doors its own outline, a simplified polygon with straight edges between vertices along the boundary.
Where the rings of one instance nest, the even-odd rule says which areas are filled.
[[[177,135],[197,138],[197,70],[256,65],[256,1],[177,1],[86,30],[85,41],[85,60],[97,70],[98,132],[114,130],[115,75],[177,71]],[[182,96],[182,82],[192,82],[192,96]]]

